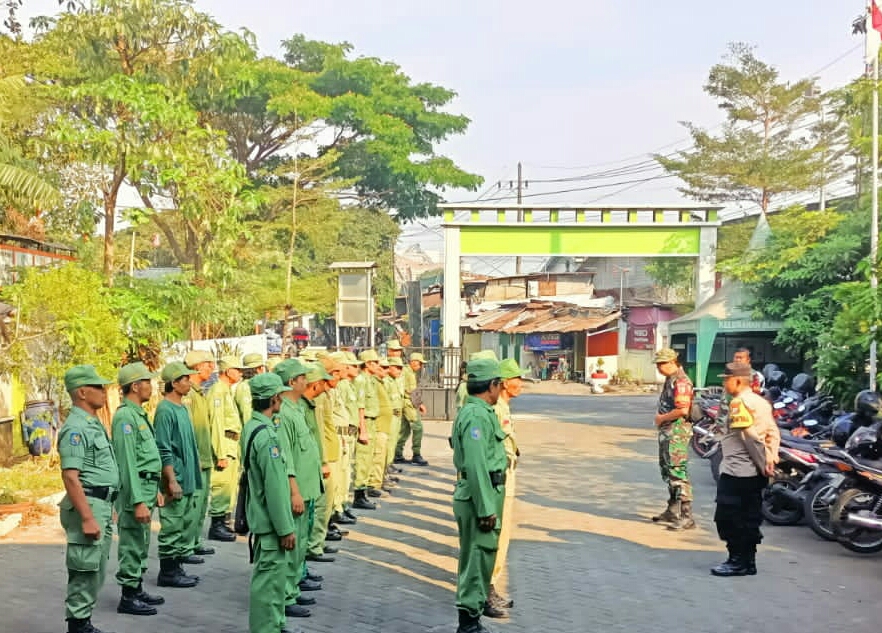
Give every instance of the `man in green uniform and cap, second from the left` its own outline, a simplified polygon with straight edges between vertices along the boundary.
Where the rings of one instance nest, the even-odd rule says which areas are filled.
[[[119,465],[119,497],[116,513],[119,569],[116,581],[122,587],[117,613],[155,615],[154,605],[163,604],[160,596],[144,591],[141,579],[147,571],[150,550],[150,520],[160,500],[159,476],[162,460],[156,446],[153,425],[147,419],[144,404],[153,395],[156,374],[144,363],[131,363],[119,370],[117,383],[123,401],[113,414],[111,438]]]

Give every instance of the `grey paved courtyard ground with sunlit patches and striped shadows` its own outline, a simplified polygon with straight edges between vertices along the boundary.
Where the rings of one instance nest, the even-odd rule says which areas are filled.
[[[522,450],[509,592],[516,608],[496,632],[878,631],[882,561],[861,558],[807,528],[764,528],[754,578],[717,579],[713,482],[695,464],[700,530],[671,533],[648,516],[666,490],[648,430],[654,398],[524,396],[514,403]],[[316,564],[325,590],[304,631],[410,633],[456,628],[456,530],[449,424],[427,424],[426,469],[412,467],[363,518],[338,560]],[[3,633],[63,631],[63,544],[53,526],[0,540]],[[155,549],[155,545],[154,545]],[[113,555],[115,557],[115,554]],[[115,570],[115,558],[111,571]],[[191,570],[197,571],[196,567]],[[155,561],[147,578],[155,589]],[[162,593],[161,614],[115,613],[109,576],[94,621],[117,633],[247,630],[244,542],[220,544],[195,589]]]

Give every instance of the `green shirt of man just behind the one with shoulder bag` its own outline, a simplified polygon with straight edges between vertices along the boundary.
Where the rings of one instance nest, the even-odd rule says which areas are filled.
[[[300,496],[307,501],[318,499],[322,494],[322,459],[299,400],[282,397],[278,442],[286,472],[297,479]]]

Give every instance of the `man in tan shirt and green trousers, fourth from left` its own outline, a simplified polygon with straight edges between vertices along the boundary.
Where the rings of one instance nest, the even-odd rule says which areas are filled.
[[[214,357],[208,352],[191,350],[184,357],[184,364],[196,373],[190,376],[190,393],[184,396],[184,406],[190,411],[193,422],[193,433],[196,436],[196,448],[199,450],[199,470],[202,476],[202,488],[193,493],[195,509],[192,526],[193,553],[197,556],[214,554],[214,548],[205,545],[202,540],[202,527],[205,515],[208,514],[208,493],[211,490],[211,471],[214,470],[214,457],[211,450],[211,425],[208,420],[208,400],[202,385],[211,378],[214,372]],[[232,532],[228,538],[236,540]]]

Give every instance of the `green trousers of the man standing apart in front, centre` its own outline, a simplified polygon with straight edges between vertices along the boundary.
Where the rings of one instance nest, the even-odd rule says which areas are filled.
[[[504,492],[499,496],[496,516],[502,516]],[[496,520],[496,528],[490,532],[478,529],[472,501],[453,500],[453,516],[459,529],[459,566],[456,578],[456,608],[467,611],[473,618],[480,617],[490,589],[490,577],[496,563],[496,550],[499,547],[501,521]]]

